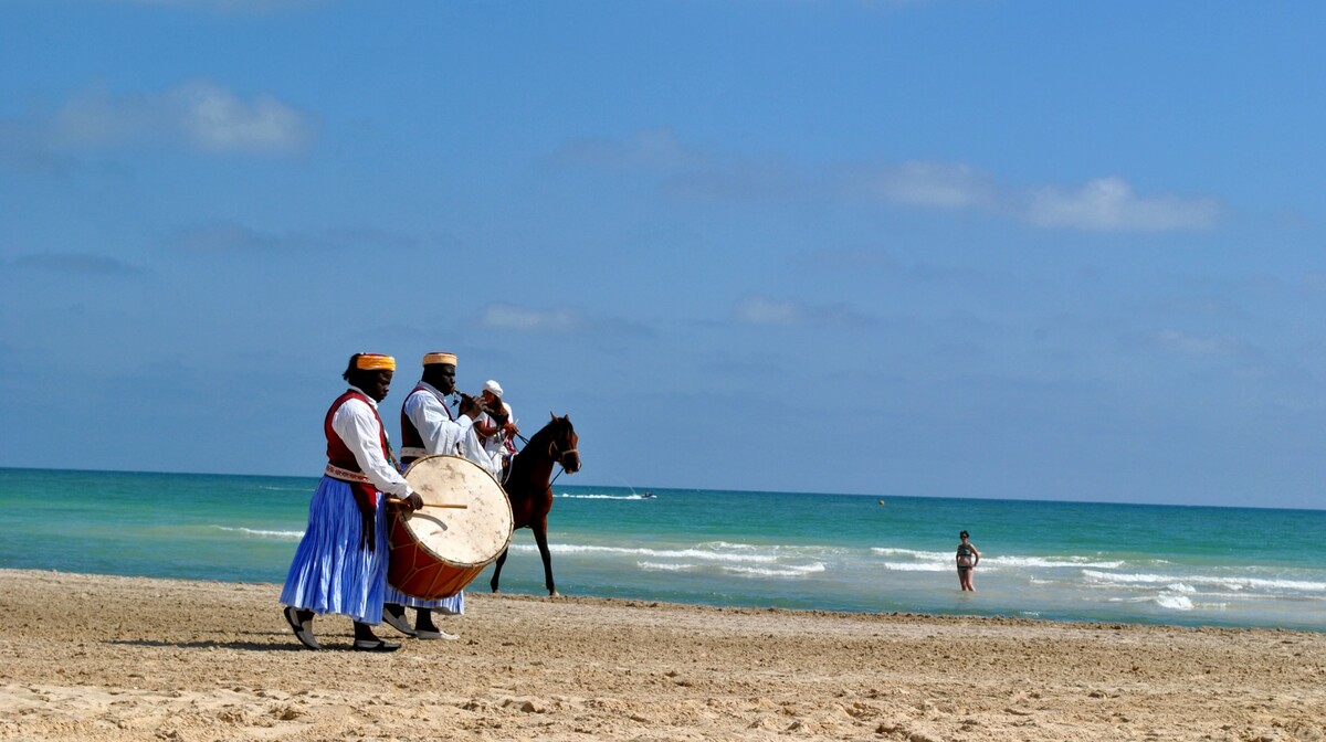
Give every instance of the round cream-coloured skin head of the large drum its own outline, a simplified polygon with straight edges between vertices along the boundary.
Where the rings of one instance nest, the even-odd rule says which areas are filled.
[[[511,543],[511,502],[497,480],[477,464],[459,456],[424,456],[406,469],[406,481],[424,507],[402,525],[439,560],[463,567],[487,564]]]

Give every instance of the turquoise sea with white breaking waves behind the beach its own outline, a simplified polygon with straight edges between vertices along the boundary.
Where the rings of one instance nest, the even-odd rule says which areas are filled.
[[[280,583],[313,477],[0,469],[0,568]],[[1326,510],[554,485],[565,595],[1326,631]],[[984,556],[957,588],[967,529]],[[489,571],[471,586],[487,590]],[[505,592],[542,594],[517,531]],[[273,590],[274,595],[274,590]],[[273,598],[274,599],[274,598]]]

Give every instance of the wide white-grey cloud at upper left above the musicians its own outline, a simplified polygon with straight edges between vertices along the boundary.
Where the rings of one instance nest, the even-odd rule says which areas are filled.
[[[210,152],[300,152],[317,123],[273,95],[249,101],[204,81],[159,94],[111,97],[94,91],[72,99],[53,122],[57,144],[142,146],[172,142]]]

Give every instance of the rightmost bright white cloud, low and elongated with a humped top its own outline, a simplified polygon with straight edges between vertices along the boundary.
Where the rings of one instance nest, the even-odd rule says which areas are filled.
[[[1142,199],[1122,178],[1098,178],[1078,191],[1033,192],[1025,219],[1046,228],[1164,232],[1209,229],[1220,211],[1213,199]]]

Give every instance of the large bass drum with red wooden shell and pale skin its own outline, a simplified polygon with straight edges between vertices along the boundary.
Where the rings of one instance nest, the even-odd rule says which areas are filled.
[[[424,456],[406,481],[424,506],[391,513],[387,582],[412,598],[448,598],[511,543],[511,502],[492,474],[459,456]]]

